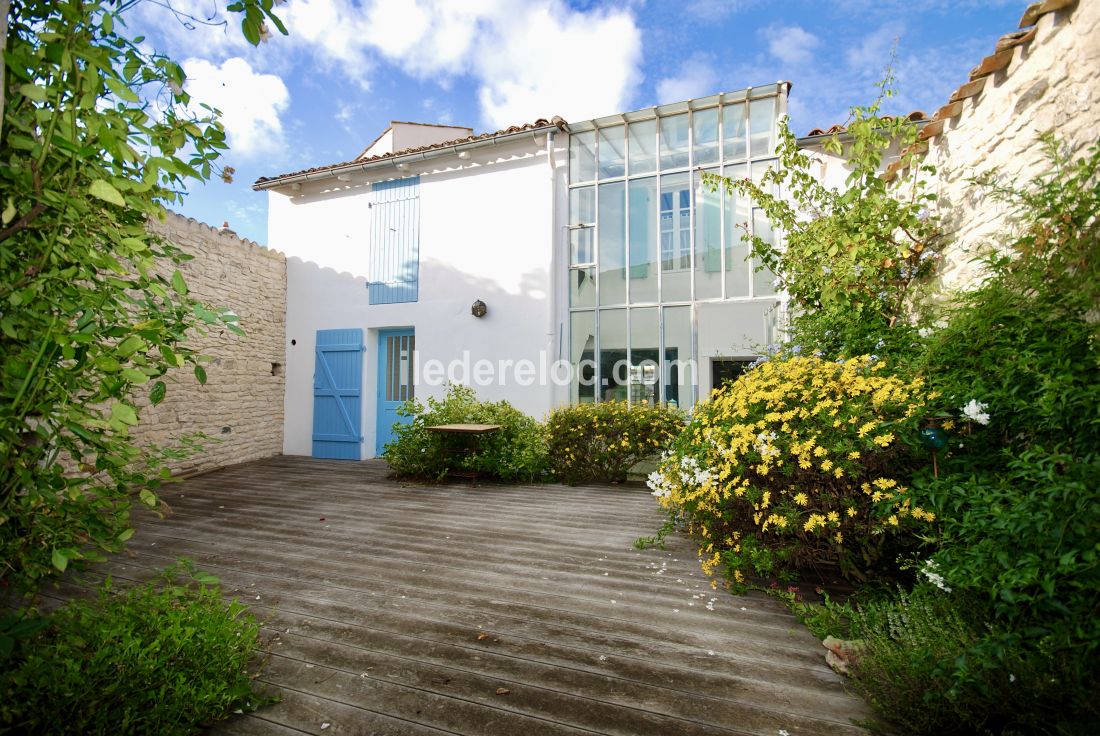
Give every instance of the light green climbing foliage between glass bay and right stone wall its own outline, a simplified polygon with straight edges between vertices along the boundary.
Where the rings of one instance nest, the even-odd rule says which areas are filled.
[[[778,277],[791,298],[791,337],[833,356],[891,352],[908,344],[912,287],[936,263],[939,232],[928,215],[935,195],[916,176],[895,188],[882,176],[884,158],[916,141],[916,124],[881,114],[892,96],[891,78],[871,105],[855,107],[844,134],[825,150],[843,154],[849,174],[843,190],[822,182],[814,156],[780,123],[779,162],[759,183],[704,175],[710,186],[751,198],[783,232],[776,245],[752,238],[752,254]],[[931,166],[920,174],[934,173]]]

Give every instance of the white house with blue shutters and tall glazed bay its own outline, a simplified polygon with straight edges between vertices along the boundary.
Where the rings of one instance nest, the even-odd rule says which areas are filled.
[[[703,172],[773,165],[778,83],[473,135],[394,122],[356,158],[258,179],[287,266],[284,452],[381,452],[402,400],[470,383],[690,407],[774,341],[751,202]]]

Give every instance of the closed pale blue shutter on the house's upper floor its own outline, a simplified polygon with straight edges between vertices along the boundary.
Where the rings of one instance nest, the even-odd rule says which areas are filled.
[[[371,304],[416,301],[420,272],[420,177],[371,185]]]

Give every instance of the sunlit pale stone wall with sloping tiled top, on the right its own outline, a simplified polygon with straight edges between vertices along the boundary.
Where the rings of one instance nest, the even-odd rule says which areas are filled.
[[[936,166],[932,191],[950,239],[941,272],[947,290],[978,276],[975,255],[1011,230],[1011,212],[970,179],[997,171],[1027,183],[1048,169],[1040,140],[1053,131],[1082,155],[1100,139],[1100,1],[1046,0],[1027,9],[921,133],[922,163]],[[887,177],[902,175],[891,166]]]

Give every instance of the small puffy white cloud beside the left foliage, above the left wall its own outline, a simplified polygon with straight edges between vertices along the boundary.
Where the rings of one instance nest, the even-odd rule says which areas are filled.
[[[221,110],[230,153],[250,157],[283,145],[279,113],[290,103],[290,94],[279,77],[257,74],[238,56],[220,65],[189,58],[183,67],[193,110],[201,112],[199,102]]]

